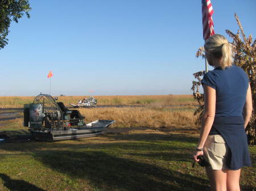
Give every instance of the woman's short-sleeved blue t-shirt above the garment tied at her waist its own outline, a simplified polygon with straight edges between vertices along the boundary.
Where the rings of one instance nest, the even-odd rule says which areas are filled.
[[[215,117],[242,116],[249,79],[240,67],[221,67],[204,75],[201,83],[216,90]]]

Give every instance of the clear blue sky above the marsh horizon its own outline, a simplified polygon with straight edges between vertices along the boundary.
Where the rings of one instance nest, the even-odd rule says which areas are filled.
[[[201,0],[31,0],[0,50],[0,96],[192,94]],[[214,31],[256,36],[256,1],[212,0]],[[229,39],[230,40],[230,39]],[[212,68],[210,68],[212,69]]]

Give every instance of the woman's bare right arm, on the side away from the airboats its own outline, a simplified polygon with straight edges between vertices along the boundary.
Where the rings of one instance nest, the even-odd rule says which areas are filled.
[[[253,101],[251,100],[251,86],[249,83],[247,94],[246,94],[245,106],[243,107],[243,120],[245,121],[245,128],[248,122],[250,121],[252,111],[253,111]]]

